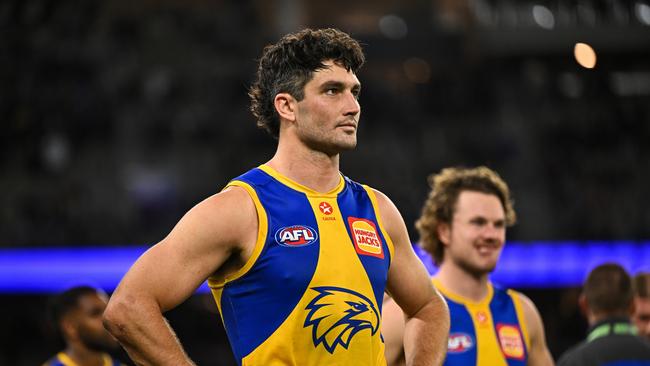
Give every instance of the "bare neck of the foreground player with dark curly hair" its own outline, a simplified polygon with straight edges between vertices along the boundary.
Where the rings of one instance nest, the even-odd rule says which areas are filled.
[[[340,183],[339,155],[329,156],[298,144],[278,144],[267,165],[317,192],[329,192]]]

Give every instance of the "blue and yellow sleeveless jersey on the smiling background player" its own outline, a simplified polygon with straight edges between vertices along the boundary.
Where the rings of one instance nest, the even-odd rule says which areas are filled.
[[[488,284],[488,295],[473,302],[433,284],[451,316],[445,366],[525,366],[530,340],[515,291]]]

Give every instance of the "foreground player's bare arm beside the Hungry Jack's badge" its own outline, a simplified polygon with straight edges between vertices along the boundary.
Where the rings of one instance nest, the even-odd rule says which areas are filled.
[[[449,310],[413,252],[406,225],[395,205],[375,191],[380,215],[395,252],[386,290],[402,308],[407,365],[441,365],[447,350]]]

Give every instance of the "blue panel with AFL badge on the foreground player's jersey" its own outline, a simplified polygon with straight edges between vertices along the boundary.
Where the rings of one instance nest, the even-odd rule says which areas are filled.
[[[236,180],[255,188],[269,218],[264,248],[255,265],[241,278],[227,283],[221,296],[228,338],[235,359],[241,362],[273,334],[307,291],[318,262],[320,242],[316,218],[304,193],[277,182],[260,169]],[[304,232],[310,240],[286,244],[281,240],[287,233],[283,229]],[[291,238],[291,233],[288,235]]]

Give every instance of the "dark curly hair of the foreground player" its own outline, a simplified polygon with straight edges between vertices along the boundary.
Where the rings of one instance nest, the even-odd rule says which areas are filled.
[[[280,133],[280,117],[275,110],[275,96],[289,93],[298,101],[304,98],[304,87],[315,71],[324,69],[324,61],[356,73],[365,56],[359,42],[337,29],[304,29],[287,34],[262,52],[255,82],[248,96],[257,126],[273,137]]]

